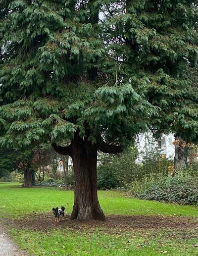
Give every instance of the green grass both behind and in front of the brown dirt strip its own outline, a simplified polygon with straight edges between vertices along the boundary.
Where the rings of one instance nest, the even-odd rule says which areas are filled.
[[[116,191],[99,191],[105,214],[198,216],[194,206],[180,206],[130,199]],[[68,204],[68,205],[67,205]],[[26,217],[33,212],[49,212],[53,206],[73,206],[73,192],[58,188],[20,188],[18,183],[0,183],[0,217]],[[60,228],[43,231],[10,226],[16,243],[34,256],[198,256],[198,229],[171,230],[118,228]]]

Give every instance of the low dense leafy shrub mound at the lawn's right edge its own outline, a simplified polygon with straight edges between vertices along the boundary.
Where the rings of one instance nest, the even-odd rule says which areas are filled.
[[[164,201],[180,205],[198,205],[198,181],[186,170],[174,177],[163,176],[148,183],[147,188],[136,192],[139,199]]]

